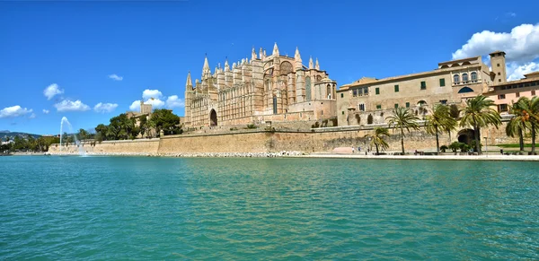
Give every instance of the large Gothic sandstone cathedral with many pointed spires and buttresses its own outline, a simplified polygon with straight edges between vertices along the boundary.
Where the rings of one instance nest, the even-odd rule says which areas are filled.
[[[190,73],[185,84],[187,127],[239,126],[267,122],[317,121],[335,116],[337,83],[320,70],[318,59],[302,63],[281,56],[277,43],[270,56],[252,48],[251,59],[232,66],[225,61],[212,73],[208,57],[202,77],[193,85]]]

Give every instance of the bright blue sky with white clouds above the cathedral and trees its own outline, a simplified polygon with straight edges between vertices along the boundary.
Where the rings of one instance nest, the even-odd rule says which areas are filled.
[[[274,42],[339,85],[499,48],[508,75],[539,70],[537,1],[368,2],[0,2],[0,130],[57,134],[64,116],[92,128],[143,95],[182,116],[206,53],[213,72]]]

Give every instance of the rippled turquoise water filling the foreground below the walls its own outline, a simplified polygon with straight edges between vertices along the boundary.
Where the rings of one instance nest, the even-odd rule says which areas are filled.
[[[539,258],[539,164],[0,157],[0,259]]]

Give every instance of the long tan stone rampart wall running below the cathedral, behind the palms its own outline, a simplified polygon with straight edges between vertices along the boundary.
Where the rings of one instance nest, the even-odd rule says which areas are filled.
[[[192,153],[192,152],[331,152],[338,147],[361,147],[365,151],[369,141],[365,137],[372,133],[373,126],[338,126],[316,128],[310,131],[275,130],[265,131],[263,128],[244,129],[229,133],[170,135],[161,139],[135,140],[135,141],[107,141],[91,146],[84,144],[84,151],[93,153]],[[386,139],[389,144],[388,151],[401,151],[401,138],[398,130],[390,129],[390,137]],[[517,138],[505,135],[505,123],[499,129],[490,127],[482,130],[482,144],[517,144]],[[439,144],[449,145],[457,141],[458,132],[451,136],[439,136]],[[529,143],[529,138],[526,139]],[[421,127],[420,131],[406,133],[404,146],[407,152],[435,151],[436,138],[429,135]],[[374,151],[375,148],[371,147]],[[49,152],[59,152],[56,145],[50,147]],[[62,152],[77,152],[73,145],[64,147]]]

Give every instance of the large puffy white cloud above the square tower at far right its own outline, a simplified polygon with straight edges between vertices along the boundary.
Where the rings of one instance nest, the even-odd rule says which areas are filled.
[[[511,32],[476,32],[453,53],[453,58],[477,57],[496,50],[506,52],[508,62],[530,62],[539,57],[539,24],[521,24]]]

